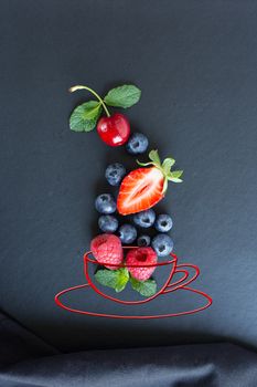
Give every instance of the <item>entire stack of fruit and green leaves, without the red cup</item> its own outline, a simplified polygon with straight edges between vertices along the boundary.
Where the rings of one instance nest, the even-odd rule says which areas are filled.
[[[71,92],[86,90],[96,100],[77,106],[71,115],[69,127],[75,132],[90,132],[95,127],[100,139],[110,147],[125,145],[131,156],[148,150],[149,140],[141,133],[131,133],[128,118],[120,113],[109,113],[108,107],[128,108],[135,105],[141,92],[135,85],[122,85],[110,90],[101,98],[88,86],[74,86]],[[108,106],[108,107],[107,107]],[[106,116],[101,116],[101,113]],[[127,171],[120,163],[107,166],[105,178],[109,192],[99,194],[95,209],[99,213],[100,234],[90,243],[90,250],[100,269],[95,279],[101,285],[121,292],[128,283],[142,296],[157,292],[152,278],[159,258],[169,255],[173,240],[168,234],[173,221],[170,215],[157,215],[153,207],[160,202],[168,190],[169,181],[181,182],[182,170],[172,170],[175,160],[171,157],[161,161],[158,150],[149,153],[149,160],[137,160],[139,167]],[[118,195],[114,189],[118,188]],[[111,192],[113,189],[113,192]],[[153,234],[154,233],[154,234]],[[135,245],[124,257],[122,245]]]

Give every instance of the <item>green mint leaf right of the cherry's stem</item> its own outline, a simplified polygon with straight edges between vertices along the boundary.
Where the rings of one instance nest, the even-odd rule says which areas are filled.
[[[141,91],[135,85],[122,85],[111,88],[104,101],[109,106],[130,107],[135,105],[141,96]]]

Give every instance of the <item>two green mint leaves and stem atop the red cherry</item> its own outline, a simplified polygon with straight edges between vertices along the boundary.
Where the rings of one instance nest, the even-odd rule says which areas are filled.
[[[130,107],[135,105],[141,96],[141,91],[135,85],[122,85],[111,88],[105,98],[101,98],[93,88],[84,85],[76,85],[69,88],[69,92],[86,90],[93,94],[96,101],[88,101],[75,107],[69,117],[69,128],[74,132],[90,132],[96,127],[97,121],[105,111],[107,117],[110,113],[108,106]]]

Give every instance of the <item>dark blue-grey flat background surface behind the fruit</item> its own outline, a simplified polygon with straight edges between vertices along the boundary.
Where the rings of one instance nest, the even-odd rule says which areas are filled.
[[[64,351],[219,338],[257,346],[257,3],[8,0],[0,45],[0,306]],[[107,160],[125,157],[96,133],[69,132],[69,112],[87,95],[67,88],[105,93],[124,82],[142,90],[127,112],[133,129],[185,170],[162,207],[178,254],[200,265],[197,287],[214,299],[202,314],[115,322],[53,303],[84,282],[94,197]]]

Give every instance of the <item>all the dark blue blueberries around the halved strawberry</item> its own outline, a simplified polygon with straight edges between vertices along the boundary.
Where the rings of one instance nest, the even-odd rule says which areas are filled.
[[[127,148],[130,153],[137,154],[144,151],[148,146],[148,140],[143,135],[135,134],[130,137],[127,144]],[[142,150],[144,149],[144,150]],[[119,186],[122,178],[126,175],[126,168],[119,164],[110,164],[106,171],[105,177],[110,186]],[[110,194],[101,194],[95,200],[95,208],[100,213],[98,219],[98,227],[105,233],[116,233],[119,236],[124,244],[132,244],[137,240],[139,247],[151,245],[159,257],[165,257],[173,250],[173,241],[167,233],[171,230],[173,223],[169,215],[156,215],[153,209],[149,209],[142,212],[135,213],[131,217],[131,223],[125,223],[119,227],[116,212],[116,199]],[[138,229],[144,232],[138,236]],[[146,232],[151,229],[158,231],[153,238]]]

